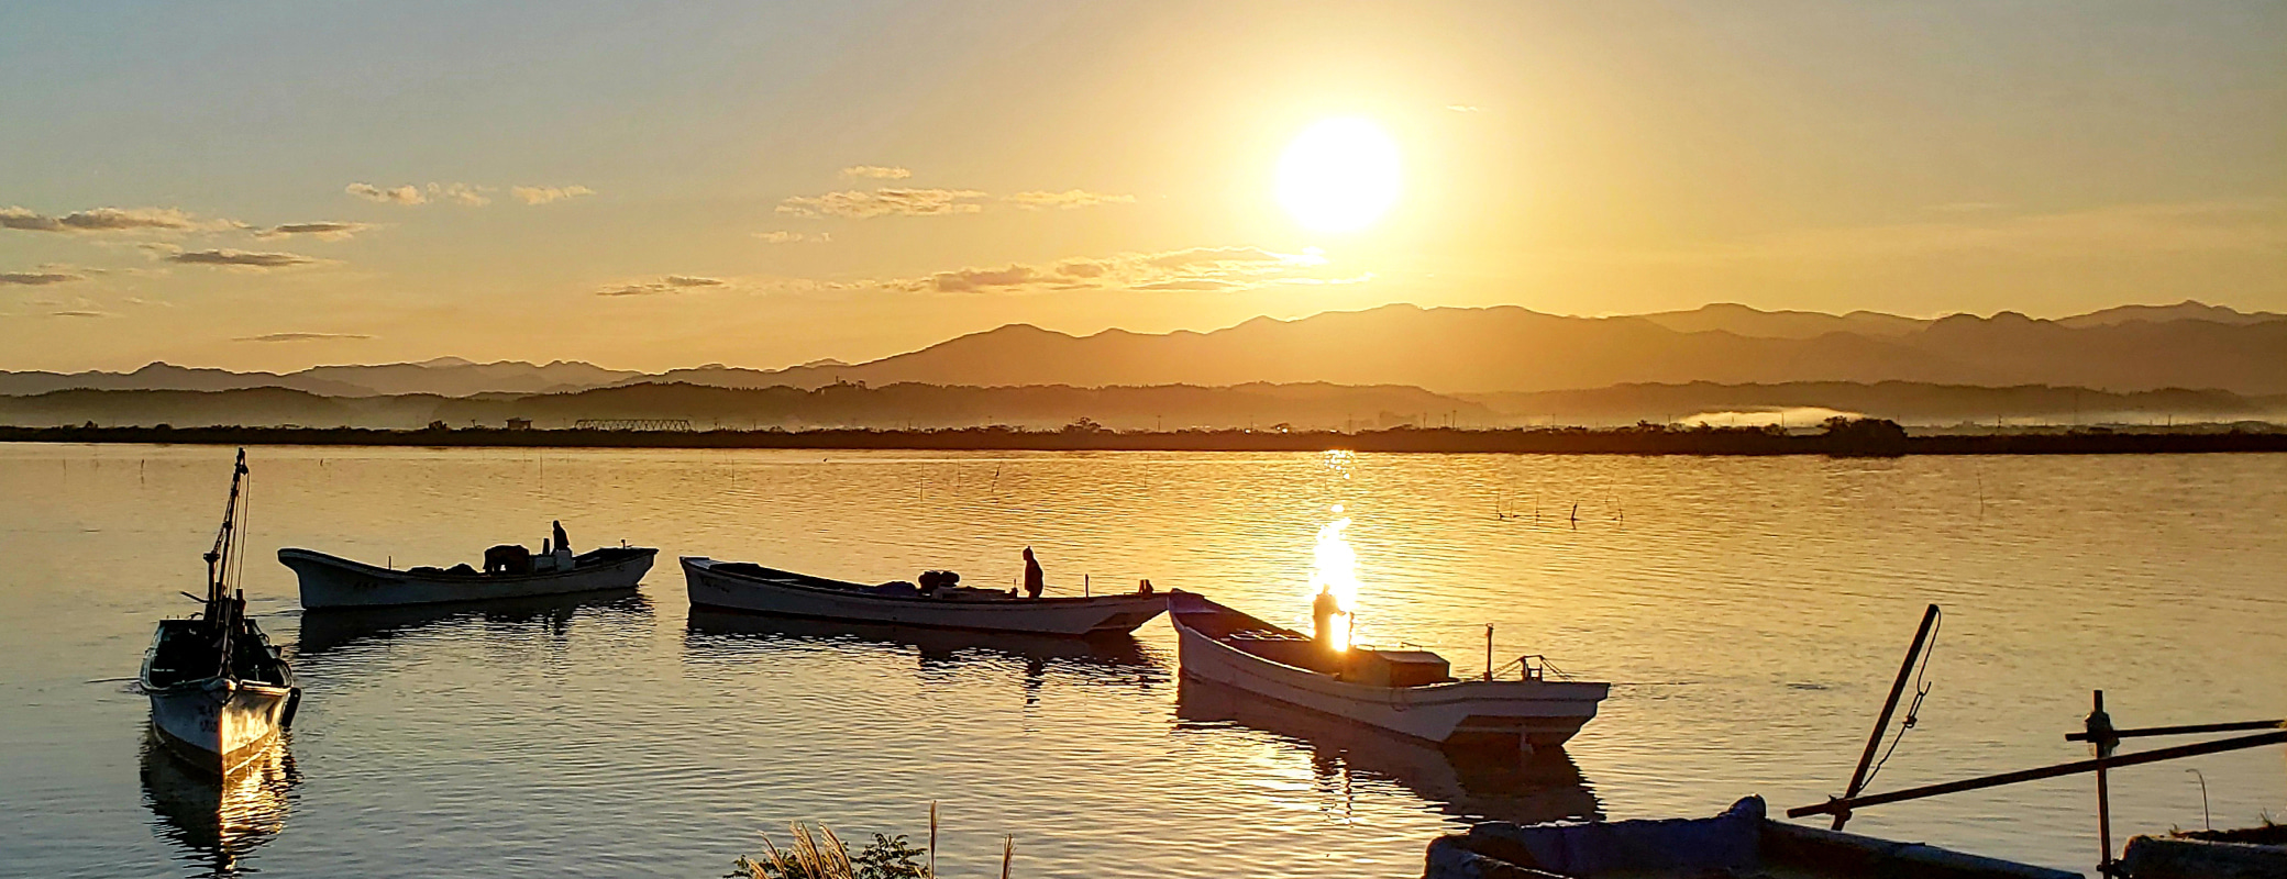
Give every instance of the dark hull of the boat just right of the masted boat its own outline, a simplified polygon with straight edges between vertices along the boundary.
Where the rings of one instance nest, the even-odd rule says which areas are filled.
[[[620,559],[581,564],[572,571],[521,575],[421,575],[295,548],[279,550],[279,562],[302,580],[302,607],[316,610],[441,605],[633,589],[652,571],[656,555],[659,550],[627,550]]]

